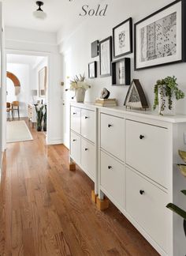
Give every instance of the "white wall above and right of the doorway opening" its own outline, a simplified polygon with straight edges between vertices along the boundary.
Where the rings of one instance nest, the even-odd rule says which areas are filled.
[[[16,51],[20,54],[48,56],[47,144],[62,143],[61,56],[58,53],[56,33],[6,27],[6,51],[9,54]]]

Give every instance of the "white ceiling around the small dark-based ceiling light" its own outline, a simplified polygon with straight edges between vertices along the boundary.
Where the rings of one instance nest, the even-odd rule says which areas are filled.
[[[3,4],[4,21],[6,26],[31,28],[46,32],[58,32],[64,26],[76,26],[84,17],[79,13],[84,5],[96,6],[104,0],[43,0],[43,10],[47,13],[46,20],[33,17],[37,9],[34,0],[1,0]]]

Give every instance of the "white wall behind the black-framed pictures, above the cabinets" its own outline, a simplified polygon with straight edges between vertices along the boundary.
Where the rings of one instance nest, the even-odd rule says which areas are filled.
[[[87,64],[91,61],[99,61],[99,58],[91,58],[91,42],[95,40],[103,40],[108,36],[112,36],[112,28],[132,17],[133,23],[147,17],[147,15],[169,4],[170,0],[117,0],[102,1],[102,5],[108,2],[108,12],[106,17],[84,17],[84,23],[71,32],[69,36],[62,37],[62,33],[58,33],[58,42],[60,43],[60,51],[63,55],[63,74],[64,80],[66,76],[72,77],[75,74],[84,73],[87,77]],[[154,100],[154,83],[166,76],[175,75],[179,87],[186,92],[186,64],[175,64],[147,70],[134,71],[134,55],[126,55],[131,58],[132,78],[139,78],[146,92],[149,105],[152,107]],[[99,64],[99,62],[98,62]],[[128,86],[111,86],[111,77],[96,78],[90,80],[91,89],[86,92],[86,101],[95,101],[99,97],[103,87],[111,92],[111,97],[116,97],[119,105],[124,104]],[[68,87],[68,81],[66,81]],[[66,98],[70,99],[68,93]],[[177,101],[177,112],[186,114],[186,98]]]

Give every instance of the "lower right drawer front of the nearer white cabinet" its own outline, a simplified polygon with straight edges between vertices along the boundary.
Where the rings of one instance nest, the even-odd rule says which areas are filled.
[[[169,230],[167,200],[165,192],[126,168],[126,211],[165,251]]]

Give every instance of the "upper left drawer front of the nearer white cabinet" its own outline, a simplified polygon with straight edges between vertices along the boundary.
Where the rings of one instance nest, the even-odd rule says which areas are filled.
[[[125,119],[101,114],[101,148],[125,160]]]

